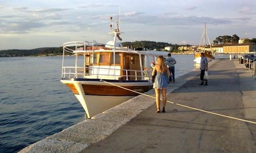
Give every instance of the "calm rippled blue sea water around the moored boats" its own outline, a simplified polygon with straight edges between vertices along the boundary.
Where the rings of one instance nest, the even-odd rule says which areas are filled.
[[[176,77],[196,66],[193,55],[173,57]],[[62,57],[0,58],[0,153],[18,152],[85,119],[80,103],[59,81],[61,64]]]

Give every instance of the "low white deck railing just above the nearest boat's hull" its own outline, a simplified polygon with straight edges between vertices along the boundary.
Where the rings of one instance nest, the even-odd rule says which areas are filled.
[[[107,73],[100,73],[104,70]],[[113,71],[116,71],[116,73],[113,73]],[[143,74],[142,76],[141,76],[141,72]],[[94,78],[94,79],[115,79],[115,80],[145,79],[147,80],[152,77],[150,74],[151,73],[148,70],[140,71],[140,70],[114,69],[114,68],[63,67],[62,69],[62,78]]]

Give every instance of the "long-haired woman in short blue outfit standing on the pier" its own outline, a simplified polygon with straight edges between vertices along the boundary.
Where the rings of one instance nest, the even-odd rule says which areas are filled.
[[[152,76],[155,76],[155,82],[153,84],[153,88],[155,88],[155,97],[156,97],[156,113],[160,113],[160,92],[162,91],[162,99],[163,99],[163,110],[165,112],[165,104],[166,104],[166,89],[168,85],[169,76],[171,73],[167,66],[165,65],[165,59],[163,56],[158,56],[157,64],[155,65]]]

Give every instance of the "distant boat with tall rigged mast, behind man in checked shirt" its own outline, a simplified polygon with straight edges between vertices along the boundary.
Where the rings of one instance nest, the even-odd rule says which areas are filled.
[[[200,41],[200,44],[199,44],[199,47],[198,47],[198,50],[196,51],[195,53],[195,59],[194,61],[197,63],[197,64],[200,64],[201,63],[201,52],[204,53],[204,56],[207,58],[208,62],[212,61],[213,59],[215,59],[212,51],[211,51],[211,46],[210,48],[205,48],[206,46],[206,38],[208,39],[208,43],[210,45],[210,40],[208,38],[208,35],[207,35],[207,31],[206,31],[206,23],[204,24],[204,29],[203,29],[203,33],[202,33],[202,37],[201,37],[201,41],[203,39],[203,46],[201,46],[201,41]]]

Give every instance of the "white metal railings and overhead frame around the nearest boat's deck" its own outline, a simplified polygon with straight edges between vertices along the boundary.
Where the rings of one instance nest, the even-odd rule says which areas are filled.
[[[62,78],[108,78],[110,77],[110,79],[116,79],[119,80],[121,77],[122,79],[125,80],[138,80],[138,79],[142,79],[142,80],[147,80],[147,79],[151,79],[151,72],[150,70],[143,70],[143,66],[141,63],[141,53],[139,54],[140,57],[140,70],[128,70],[128,69],[120,69],[120,68],[115,68],[116,65],[114,63],[114,68],[95,68],[94,67],[94,50],[98,49],[100,50],[101,47],[103,47],[105,50],[112,50],[113,52],[115,52],[116,49],[121,50],[121,51],[125,51],[125,52],[132,52],[132,53],[137,53],[136,51],[127,49],[125,47],[121,47],[121,46],[116,46],[116,45],[112,45],[112,44],[103,44],[103,43],[98,43],[98,42],[66,42],[63,45],[63,62],[62,62]],[[75,66],[74,67],[65,67],[64,66],[64,52],[70,52],[73,53],[76,56],[75,59]],[[82,54],[84,56],[84,63],[87,63],[87,61],[85,61],[85,56],[87,54],[87,52],[92,53],[92,61],[90,61],[90,63],[92,63],[92,67],[86,67],[85,64],[82,67],[78,66],[77,63],[77,58],[78,55]],[[154,53],[152,53],[151,56],[155,56]],[[115,56],[114,56],[115,58]],[[88,61],[89,62],[89,61]],[[105,69],[107,71],[111,71],[113,72],[112,74],[102,74],[102,72],[100,72],[100,70]],[[107,72],[105,71],[105,72]],[[123,72],[123,73],[121,73]],[[124,74],[121,76],[121,74]]]

